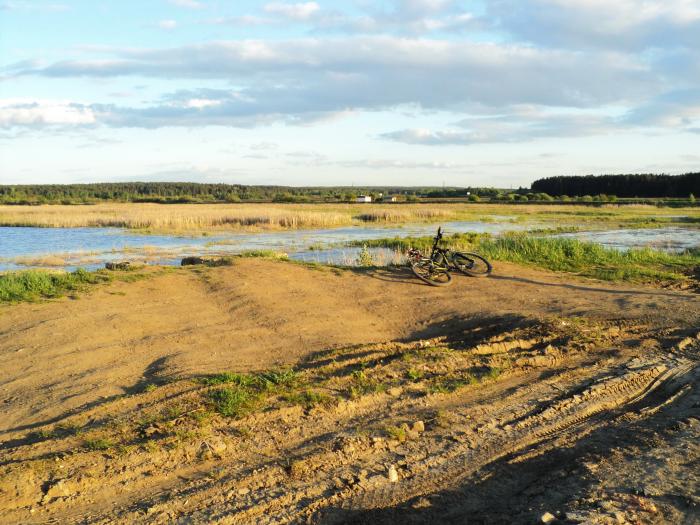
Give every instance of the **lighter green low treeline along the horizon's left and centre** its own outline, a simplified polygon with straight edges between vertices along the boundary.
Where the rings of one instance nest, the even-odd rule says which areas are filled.
[[[96,184],[0,185],[2,204],[92,204],[96,202],[348,202],[358,195],[398,196],[415,200],[435,188],[289,187],[200,184],[194,182],[125,182]]]

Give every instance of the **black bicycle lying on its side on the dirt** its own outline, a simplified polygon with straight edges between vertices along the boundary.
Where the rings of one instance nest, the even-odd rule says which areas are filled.
[[[450,270],[453,269],[470,277],[486,277],[491,274],[493,266],[485,257],[478,253],[454,252],[449,248],[441,248],[442,237],[440,227],[428,257],[415,248],[408,251],[408,261],[416,277],[432,286],[447,286],[452,281]]]

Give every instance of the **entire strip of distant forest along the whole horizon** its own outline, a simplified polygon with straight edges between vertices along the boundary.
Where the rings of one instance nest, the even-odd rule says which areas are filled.
[[[456,187],[289,187],[200,184],[194,182],[115,182],[96,184],[0,185],[0,204],[92,204],[97,202],[353,202],[370,195],[375,202],[424,199],[498,202],[610,202],[617,198],[700,197],[700,173],[685,175],[589,175],[549,177],[532,188]]]

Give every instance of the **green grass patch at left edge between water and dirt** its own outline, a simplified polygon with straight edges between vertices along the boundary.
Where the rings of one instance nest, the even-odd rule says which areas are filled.
[[[82,268],[71,272],[25,270],[0,275],[0,302],[17,303],[61,297],[84,290],[91,284],[109,281],[103,272],[88,272]]]

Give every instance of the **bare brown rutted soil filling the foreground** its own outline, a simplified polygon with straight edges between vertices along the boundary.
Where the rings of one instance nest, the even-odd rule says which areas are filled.
[[[697,295],[263,259],[0,309],[2,523],[696,523]],[[198,378],[294,367],[239,417]]]

